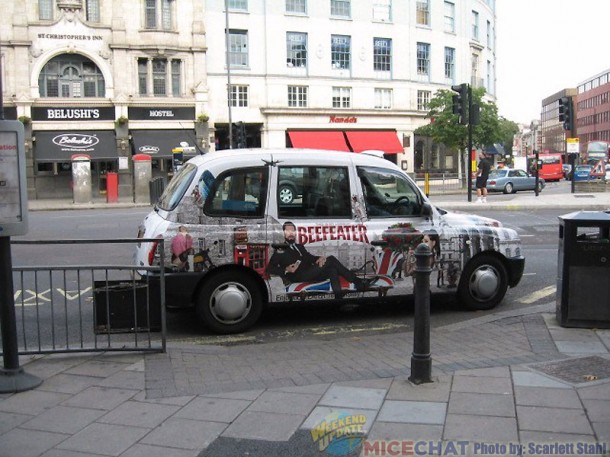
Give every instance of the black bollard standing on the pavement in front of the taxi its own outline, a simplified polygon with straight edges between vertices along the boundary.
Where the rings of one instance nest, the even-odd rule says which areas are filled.
[[[421,243],[415,249],[415,318],[411,376],[413,384],[432,382],[432,357],[430,356],[430,273],[432,250]]]

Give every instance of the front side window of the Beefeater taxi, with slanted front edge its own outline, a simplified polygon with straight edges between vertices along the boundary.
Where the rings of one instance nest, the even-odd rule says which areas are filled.
[[[420,193],[400,173],[377,167],[358,167],[358,178],[369,218],[421,214]]]

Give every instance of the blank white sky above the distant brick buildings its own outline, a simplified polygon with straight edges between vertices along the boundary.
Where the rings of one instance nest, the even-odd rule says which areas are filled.
[[[610,0],[496,0],[496,29],[496,104],[518,124],[610,69]]]

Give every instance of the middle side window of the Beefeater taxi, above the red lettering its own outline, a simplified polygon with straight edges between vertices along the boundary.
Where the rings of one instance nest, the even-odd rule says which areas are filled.
[[[278,215],[282,218],[351,218],[345,167],[279,167]]]

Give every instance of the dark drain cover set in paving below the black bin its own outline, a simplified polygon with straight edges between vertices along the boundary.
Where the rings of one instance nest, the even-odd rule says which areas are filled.
[[[530,366],[534,370],[573,384],[610,379],[610,360],[596,355]]]

